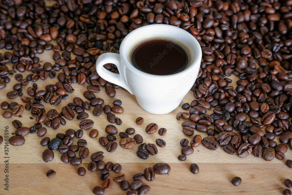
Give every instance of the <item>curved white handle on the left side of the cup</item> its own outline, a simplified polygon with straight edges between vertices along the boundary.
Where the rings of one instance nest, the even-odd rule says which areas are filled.
[[[130,94],[133,94],[132,90],[126,83],[126,79],[121,74],[116,74],[108,71],[103,65],[111,63],[115,64],[119,70],[119,73],[121,73],[121,59],[120,54],[115,53],[104,53],[101,54],[96,61],[96,71],[98,75],[100,75],[103,79],[107,80],[108,82],[117,84],[124,89],[126,89]]]

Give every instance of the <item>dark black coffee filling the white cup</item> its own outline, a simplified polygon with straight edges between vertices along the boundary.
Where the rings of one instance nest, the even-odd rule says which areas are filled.
[[[131,56],[135,68],[152,75],[171,75],[187,67],[188,55],[178,44],[152,40],[140,44]]]

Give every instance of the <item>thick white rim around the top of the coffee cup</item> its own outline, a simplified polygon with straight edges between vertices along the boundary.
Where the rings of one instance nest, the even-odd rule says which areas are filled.
[[[155,27],[154,27],[154,26],[155,26]],[[179,73],[171,74],[171,75],[152,75],[152,74],[145,73],[145,72],[143,72],[143,71],[138,70],[137,68],[135,68],[135,67],[132,65],[132,63],[129,62],[129,60],[128,60],[128,58],[127,58],[127,52],[128,52],[128,51],[124,51],[124,47],[125,47],[125,45],[123,44],[123,42],[124,42],[127,38],[129,38],[129,37],[135,35],[135,33],[136,33],[137,31],[140,31],[140,30],[147,31],[147,29],[148,29],[148,32],[151,32],[149,28],[163,28],[163,29],[166,29],[166,28],[167,28],[167,29],[172,30],[172,31],[175,31],[175,32],[179,31],[180,33],[183,33],[183,36],[184,36],[184,37],[188,37],[188,38],[192,41],[192,44],[194,45],[194,47],[195,47],[195,48],[197,49],[197,51],[198,51],[198,54],[193,55],[193,58],[194,58],[193,63],[190,64],[189,67],[187,67],[185,70],[183,70],[183,71],[181,71],[181,72],[179,72]],[[174,34],[175,34],[175,33],[174,33]],[[152,34],[150,34],[150,35],[152,35]],[[175,37],[174,37],[174,38],[175,38]],[[132,43],[131,43],[131,44],[132,44]],[[190,44],[190,43],[188,43],[188,44]],[[187,45],[188,45],[188,44],[187,44]],[[191,50],[191,49],[190,49],[190,50]],[[191,52],[192,52],[192,54],[193,54],[193,50],[191,50]],[[144,75],[144,76],[147,76],[147,77],[164,77],[164,78],[168,77],[168,78],[169,78],[169,77],[176,77],[176,76],[179,76],[179,75],[183,75],[183,74],[189,72],[191,68],[194,68],[194,66],[196,66],[198,62],[201,62],[201,58],[202,58],[202,50],[201,50],[201,46],[200,46],[199,42],[197,41],[197,39],[196,39],[195,37],[193,37],[193,35],[190,34],[189,32],[187,32],[186,30],[183,30],[183,29],[181,29],[181,28],[179,28],[179,27],[176,27],[176,26],[167,25],[167,24],[151,24],[151,25],[146,25],[146,26],[139,27],[139,28],[133,30],[132,32],[130,32],[129,34],[127,34],[126,37],[124,37],[123,41],[121,42],[121,46],[120,46],[120,57],[121,57],[122,63],[124,63],[124,65],[125,65],[127,68],[131,69],[131,70],[132,70],[134,73],[136,73],[136,74],[139,74],[139,75],[141,75],[141,76]],[[199,68],[198,68],[198,69],[199,69]]]

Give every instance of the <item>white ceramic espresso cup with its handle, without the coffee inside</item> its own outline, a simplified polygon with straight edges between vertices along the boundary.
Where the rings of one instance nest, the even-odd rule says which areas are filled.
[[[172,75],[151,75],[132,65],[129,54],[132,46],[143,39],[156,37],[177,40],[188,47],[191,61],[185,70]],[[141,108],[154,114],[169,113],[180,105],[197,79],[202,58],[197,39],[179,27],[164,24],[147,25],[133,30],[121,42],[119,53],[104,53],[98,57],[96,61],[98,75],[135,95]],[[115,64],[119,74],[105,69],[103,65],[107,63]]]

